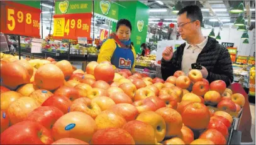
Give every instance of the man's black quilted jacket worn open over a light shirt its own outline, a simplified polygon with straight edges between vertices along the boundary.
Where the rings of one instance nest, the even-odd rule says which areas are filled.
[[[170,61],[165,61],[162,58],[161,71],[162,78],[166,80],[169,76],[173,76],[175,71],[181,70],[182,56],[186,43],[177,47],[174,56]],[[198,55],[196,63],[201,63],[208,71],[209,83],[215,80],[223,80],[228,87],[233,82],[233,68],[230,58],[230,53],[226,47],[212,37],[208,37],[206,46],[204,46],[201,53]]]

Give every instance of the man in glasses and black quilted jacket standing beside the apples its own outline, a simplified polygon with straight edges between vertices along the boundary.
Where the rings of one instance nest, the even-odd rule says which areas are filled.
[[[173,52],[167,47],[162,53],[162,78],[173,76],[175,71],[182,70],[189,73],[192,63],[201,63],[203,77],[209,83],[223,80],[226,86],[233,82],[233,68],[230,54],[226,47],[212,37],[204,37],[201,31],[203,15],[198,6],[182,8],[177,17],[177,31],[186,42]]]

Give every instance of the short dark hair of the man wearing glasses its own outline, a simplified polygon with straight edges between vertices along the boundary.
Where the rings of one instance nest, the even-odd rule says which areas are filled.
[[[191,21],[200,21],[201,25],[203,24],[203,14],[199,6],[190,5],[182,8],[178,12],[178,16],[183,14],[184,12],[187,13],[187,18],[191,19]]]

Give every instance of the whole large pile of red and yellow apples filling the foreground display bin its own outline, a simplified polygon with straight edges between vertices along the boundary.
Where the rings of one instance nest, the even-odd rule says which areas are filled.
[[[245,104],[196,69],[166,81],[108,62],[85,71],[1,61],[1,144],[226,144]]]

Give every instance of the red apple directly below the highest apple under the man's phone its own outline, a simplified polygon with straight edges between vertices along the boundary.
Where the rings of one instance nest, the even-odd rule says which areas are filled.
[[[209,91],[209,84],[203,81],[198,81],[194,83],[192,91],[198,96],[204,96],[204,94]]]

